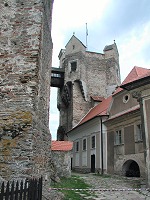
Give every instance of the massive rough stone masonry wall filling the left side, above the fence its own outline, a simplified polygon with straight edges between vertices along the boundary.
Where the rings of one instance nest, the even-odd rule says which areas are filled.
[[[0,176],[49,177],[53,0],[0,1]]]

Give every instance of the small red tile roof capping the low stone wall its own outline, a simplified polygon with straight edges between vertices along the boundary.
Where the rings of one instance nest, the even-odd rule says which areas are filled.
[[[70,141],[52,141],[52,151],[71,151],[73,142]]]

